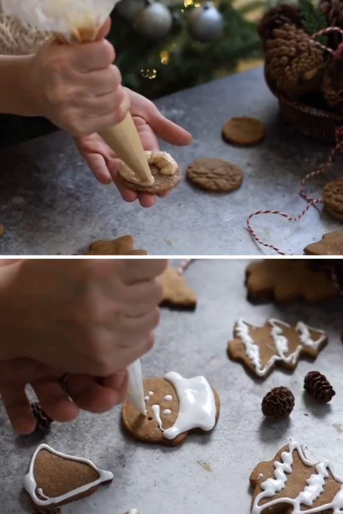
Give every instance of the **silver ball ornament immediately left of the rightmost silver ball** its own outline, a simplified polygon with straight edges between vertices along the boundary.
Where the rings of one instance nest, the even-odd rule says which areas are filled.
[[[145,38],[158,40],[168,34],[172,24],[170,10],[159,2],[152,2],[136,13],[134,27]]]

